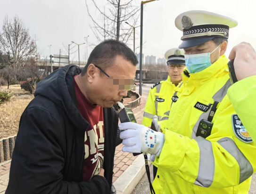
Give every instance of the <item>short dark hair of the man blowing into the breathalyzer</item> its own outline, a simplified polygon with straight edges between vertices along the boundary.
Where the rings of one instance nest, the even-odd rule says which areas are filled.
[[[116,56],[124,57],[134,66],[138,64],[138,59],[132,50],[126,44],[117,40],[105,40],[97,45],[91,52],[86,66],[83,68],[82,76],[87,72],[90,64],[97,65],[103,70],[114,64]],[[100,72],[100,75],[103,73]]]

